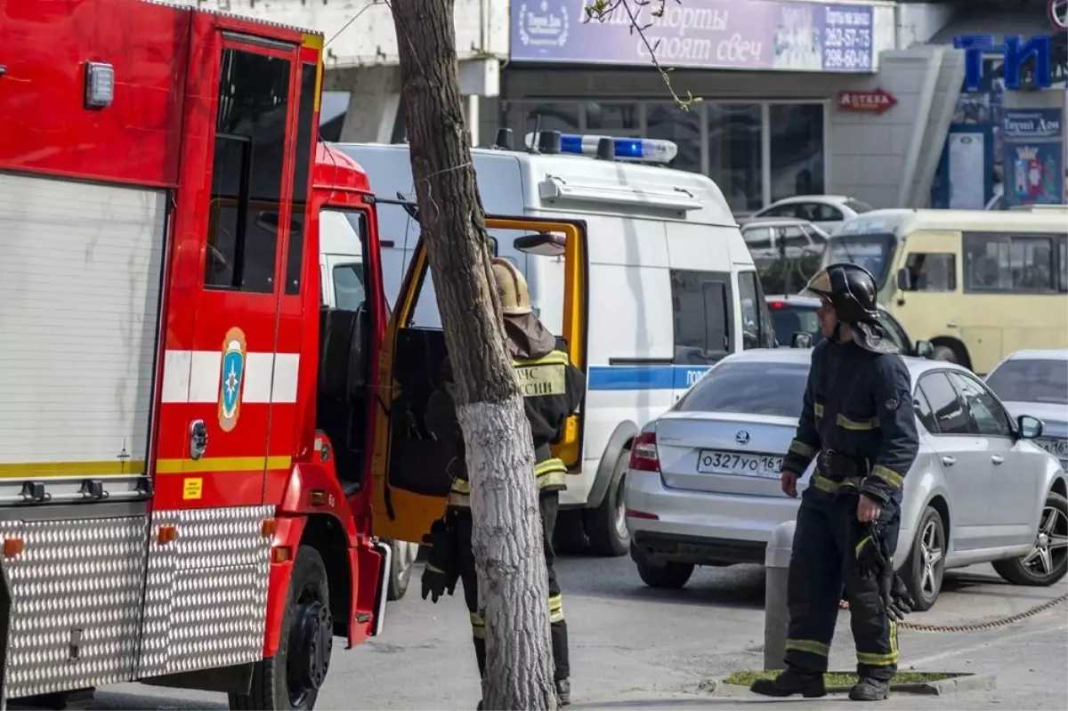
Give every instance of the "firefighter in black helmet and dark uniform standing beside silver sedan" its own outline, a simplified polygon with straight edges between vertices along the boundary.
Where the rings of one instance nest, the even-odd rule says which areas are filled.
[[[897,348],[877,322],[876,281],[834,264],[806,290],[822,300],[826,339],[812,368],[782,487],[816,467],[801,497],[787,583],[786,668],[751,690],[764,696],[819,697],[843,587],[857,645],[858,683],[849,698],[886,698],[897,672],[897,626],[912,600],[891,556],[900,526],[901,487],[918,449],[912,386]]]

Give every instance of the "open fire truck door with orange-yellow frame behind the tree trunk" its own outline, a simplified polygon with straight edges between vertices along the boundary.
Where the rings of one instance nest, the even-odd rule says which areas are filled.
[[[487,218],[500,256],[560,259],[564,264],[563,333],[556,335],[576,367],[586,365],[586,250],[581,222],[530,218]],[[426,424],[430,395],[440,389],[444,332],[414,319],[421,301],[436,299],[422,238],[415,244],[386,332],[379,363],[379,392],[374,407],[374,476],[376,536],[423,542],[430,524],[444,512],[452,486],[446,473],[455,447],[435,438]],[[582,411],[570,417],[553,447],[569,469],[582,461]],[[533,476],[533,473],[532,473]]]

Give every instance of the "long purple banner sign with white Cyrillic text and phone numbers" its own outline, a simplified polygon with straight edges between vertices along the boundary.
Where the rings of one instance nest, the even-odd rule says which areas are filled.
[[[648,66],[655,57],[664,67],[876,70],[871,5],[670,0],[619,3],[596,19],[591,1],[512,0],[511,61]]]

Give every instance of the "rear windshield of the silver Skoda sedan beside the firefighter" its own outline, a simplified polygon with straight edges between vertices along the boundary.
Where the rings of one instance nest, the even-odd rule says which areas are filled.
[[[800,417],[808,363],[721,363],[675,406],[678,412]]]

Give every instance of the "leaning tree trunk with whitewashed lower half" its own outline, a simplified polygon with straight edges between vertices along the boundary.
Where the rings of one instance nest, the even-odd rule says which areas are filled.
[[[486,711],[555,708],[534,451],[490,270],[465,131],[453,0],[393,0],[420,226],[456,382],[480,607]]]

